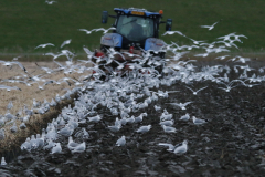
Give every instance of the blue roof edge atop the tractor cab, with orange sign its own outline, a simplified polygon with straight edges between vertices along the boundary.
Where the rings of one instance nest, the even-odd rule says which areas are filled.
[[[121,14],[131,14],[131,15],[144,15],[144,17],[151,17],[151,15],[159,15],[161,14],[159,12],[150,12],[147,11],[146,9],[137,9],[137,8],[114,8],[114,11],[116,13],[121,13]]]

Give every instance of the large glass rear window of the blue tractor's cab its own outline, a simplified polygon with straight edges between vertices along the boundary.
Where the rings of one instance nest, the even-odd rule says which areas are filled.
[[[140,41],[153,37],[153,20],[141,17],[120,15],[116,31],[128,40]]]

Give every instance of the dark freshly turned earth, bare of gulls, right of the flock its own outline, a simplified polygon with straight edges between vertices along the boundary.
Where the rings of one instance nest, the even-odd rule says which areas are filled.
[[[215,64],[220,63],[195,63],[197,70],[202,65]],[[247,64],[255,69],[264,65],[262,62]],[[233,65],[230,66],[231,81],[242,72],[236,74]],[[248,72],[248,76],[253,73],[264,75],[256,70]],[[159,90],[162,91],[180,92],[170,93],[169,98],[159,98],[150,104],[144,111],[148,116],[144,117],[140,125],[125,125],[117,133],[106,128],[114,124],[116,116],[106,107],[98,106],[97,112],[104,115],[103,121],[82,125],[87,127],[91,135],[86,140],[86,152],[71,154],[66,147],[67,138],[60,137],[57,142],[62,144],[62,154],[51,155],[50,150],[42,149],[31,154],[22,153],[13,162],[8,162],[8,166],[0,167],[0,176],[264,176],[264,83],[253,87],[241,85],[230,92],[218,88],[221,85],[210,81],[188,85],[194,88],[208,86],[198,95],[193,95],[186,87],[187,84],[181,82],[172,86],[160,86]],[[165,104],[189,101],[192,103],[184,111]],[[156,112],[153,105],[161,106],[161,111]],[[177,133],[165,133],[159,125],[163,108],[173,114]],[[209,122],[194,125],[191,119],[180,121],[180,116],[186,113]],[[137,116],[140,112],[132,114]],[[148,133],[135,132],[139,126],[149,124],[152,127]],[[123,135],[126,136],[126,146],[115,146]],[[158,145],[176,145],[184,139],[188,139],[188,152],[183,155],[176,155]]]

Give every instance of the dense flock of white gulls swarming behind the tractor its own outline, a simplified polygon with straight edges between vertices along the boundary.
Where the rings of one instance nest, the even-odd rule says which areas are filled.
[[[85,30],[81,29],[81,31]],[[166,32],[165,35],[173,33],[186,37],[179,31]],[[46,55],[53,56],[53,62],[57,64],[57,69],[40,66],[40,70],[45,71],[45,74],[47,75],[57,71],[62,71],[67,74],[75,72],[83,73],[84,71],[96,71],[93,74],[83,75],[80,79],[64,77],[60,81],[49,81],[42,79],[42,75],[33,75],[32,73],[29,73],[18,61],[0,61],[2,65],[8,67],[19,65],[23,72],[23,76],[13,80],[0,81],[2,83],[2,85],[0,85],[0,90],[18,90],[18,92],[23,92],[19,87],[4,85],[4,82],[23,82],[28,86],[36,83],[40,90],[44,90],[46,84],[60,84],[62,82],[68,83],[68,80],[75,83],[75,87],[73,90],[67,91],[67,93],[62,96],[56,95],[51,103],[47,101],[39,102],[33,100],[31,108],[25,105],[21,112],[15,115],[10,113],[10,110],[13,106],[12,102],[10,102],[7,105],[7,114],[0,115],[0,126],[2,127],[0,129],[0,140],[4,140],[6,132],[15,134],[19,129],[25,129],[26,123],[33,114],[47,113],[51,106],[55,106],[62,100],[68,98],[74,93],[78,94],[78,98],[74,101],[74,106],[64,107],[61,114],[49,123],[46,128],[42,129],[42,134],[31,135],[31,137],[28,137],[21,145],[22,150],[30,153],[36,149],[43,149],[49,150],[51,154],[56,154],[61,153],[64,148],[67,148],[73,154],[85,152],[86,148],[89,148],[86,145],[86,140],[89,139],[89,132],[93,132],[93,128],[91,128],[91,126],[82,126],[81,128],[80,125],[102,124],[105,116],[98,112],[98,107],[106,107],[113,117],[116,117],[113,119],[113,124],[105,125],[109,133],[115,134],[125,126],[134,126],[135,133],[146,134],[153,125],[144,125],[144,119],[150,118],[145,111],[147,107],[152,105],[153,110],[158,113],[157,124],[161,126],[161,132],[170,136],[170,134],[174,134],[177,132],[174,127],[176,118],[173,118],[173,114],[169,113],[166,108],[161,111],[161,105],[159,105],[157,101],[167,100],[170,93],[179,92],[181,94],[181,92],[161,91],[160,86],[170,87],[174,83],[183,83],[187,85],[187,92],[190,92],[195,96],[201,92],[206,92],[208,86],[194,88],[192,87],[194,82],[211,81],[212,83],[220,85],[219,88],[223,90],[224,93],[229,93],[236,86],[243,85],[251,88],[253,86],[261,85],[262,82],[265,81],[265,76],[262,76],[265,67],[261,67],[257,71],[261,75],[248,74],[250,71],[254,70],[247,65],[247,62],[251,59],[221,55],[215,58],[215,60],[231,58],[226,60],[226,62],[237,62],[237,65],[234,65],[233,67],[229,65],[204,65],[200,70],[193,64],[197,62],[195,60],[182,60],[192,49],[205,50],[205,53],[195,55],[201,58],[205,58],[212,53],[227,52],[230,51],[230,48],[237,48],[235,42],[242,42],[240,39],[242,37],[245,38],[241,34],[231,33],[218,38],[218,41],[212,43],[191,39],[192,45],[183,46],[180,46],[176,42],[171,42],[171,44],[166,44],[161,51],[172,53],[173,55],[160,59],[153,56],[153,52],[156,51],[142,50],[141,56],[135,55],[135,63],[127,63],[126,61],[120,63],[118,61],[114,61],[114,55],[118,52],[113,48],[107,50],[106,56],[97,58],[96,62],[92,61],[94,52],[89,51],[86,46],[84,46],[84,51],[87,54],[87,60],[78,60],[77,62],[73,62],[76,55],[68,50],[62,50],[60,53],[46,53]],[[71,40],[67,40],[61,46],[63,48],[65,44],[70,43]],[[47,45],[53,44],[42,44],[36,46],[36,49],[45,48]],[[123,53],[118,54],[123,55]],[[65,64],[56,61],[59,56],[66,56],[67,60]],[[99,66],[98,63],[103,63],[103,61],[106,64],[100,64]],[[118,62],[118,69],[114,70],[113,67],[109,67],[108,64],[112,62]],[[87,66],[87,63],[92,64],[92,66]],[[121,74],[119,71],[125,67],[125,64],[129,65],[130,71]],[[162,72],[158,72],[156,69],[161,65],[163,66],[163,70]],[[102,66],[107,70],[108,73],[103,71]],[[239,73],[240,76],[231,81],[227,75],[232,71]],[[106,77],[105,81],[100,80],[103,75]],[[40,81],[45,83],[40,85]],[[182,111],[187,111],[187,107],[192,104],[193,102],[190,101],[187,101],[186,103],[167,103],[168,106]],[[17,125],[18,121],[20,122],[19,126]],[[179,121],[191,121],[194,126],[203,126],[203,124],[209,122],[209,119],[197,118],[188,112],[187,114],[180,116]],[[7,125],[12,126],[10,129],[6,129],[4,126]],[[66,146],[62,145],[59,142],[60,137],[67,138],[68,144]],[[75,140],[75,138],[83,139],[83,142]],[[125,135],[117,137],[117,142],[114,144],[118,146],[117,148],[126,146],[126,138],[127,137]],[[166,147],[168,148],[168,152],[174,154],[184,154],[188,152],[188,142],[189,139],[182,139],[182,142],[176,142],[177,145],[161,142],[158,146]],[[7,165],[4,157],[2,157],[1,165]]]

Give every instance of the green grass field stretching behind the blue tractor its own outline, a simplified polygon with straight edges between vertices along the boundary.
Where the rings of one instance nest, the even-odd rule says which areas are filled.
[[[83,45],[98,48],[102,32],[85,34],[78,29],[109,28],[102,24],[102,11],[115,14],[114,8],[135,7],[147,10],[163,10],[163,20],[173,19],[172,30],[183,32],[195,40],[214,41],[218,37],[232,32],[244,34],[240,48],[263,52],[265,48],[264,0],[56,0],[49,6],[45,0],[6,0],[0,1],[0,53],[44,53],[59,51],[63,41],[72,39],[66,48],[82,52]],[[200,25],[212,24],[223,19],[212,31]],[[160,34],[165,24],[160,25]],[[161,37],[166,42],[174,41],[190,44],[178,34]],[[55,48],[34,48],[42,43],[54,43]],[[1,56],[0,56],[1,59]]]

